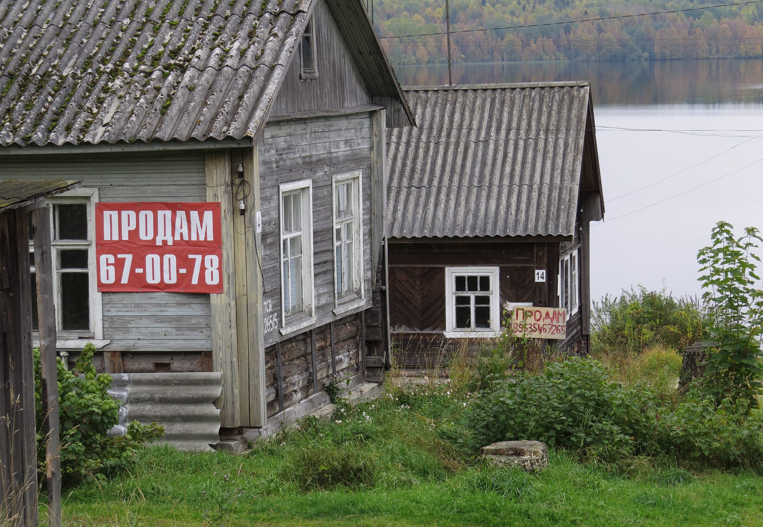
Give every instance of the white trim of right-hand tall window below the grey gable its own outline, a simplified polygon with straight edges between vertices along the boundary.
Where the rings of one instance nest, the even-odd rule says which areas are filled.
[[[349,179],[356,179],[357,184],[353,185],[353,205],[355,205],[355,212],[353,212],[353,293],[349,293],[346,296],[339,296],[336,290],[336,185],[344,183]],[[353,302],[356,299],[365,298],[365,284],[363,283],[363,186],[362,186],[362,170],[353,170],[351,172],[344,172],[334,174],[331,183],[331,259],[333,260],[333,284],[334,284],[334,307],[340,309],[340,302],[349,301]],[[343,302],[342,302],[343,303]],[[351,308],[349,308],[351,309]]]

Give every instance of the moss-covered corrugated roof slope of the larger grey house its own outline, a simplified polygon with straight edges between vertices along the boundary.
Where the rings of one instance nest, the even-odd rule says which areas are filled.
[[[0,0],[0,144],[254,135],[311,0]]]

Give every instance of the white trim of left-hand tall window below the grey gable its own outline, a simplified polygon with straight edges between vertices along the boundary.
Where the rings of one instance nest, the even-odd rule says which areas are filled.
[[[284,234],[283,234],[283,195],[292,190],[302,190],[302,311],[308,316],[315,315],[315,286],[313,273],[313,180],[301,179],[291,181],[278,186],[278,276],[280,276],[281,288],[281,327],[285,328],[285,333],[291,333],[290,324],[286,320],[286,309],[284,302]],[[295,313],[295,315],[299,315]],[[289,315],[289,318],[295,317]],[[314,321],[313,321],[314,322]],[[301,322],[293,322],[300,325]],[[309,324],[308,324],[309,325]],[[282,335],[285,335],[282,331]]]

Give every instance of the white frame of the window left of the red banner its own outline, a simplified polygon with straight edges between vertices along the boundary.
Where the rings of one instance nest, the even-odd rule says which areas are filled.
[[[56,306],[56,347],[67,348],[79,348],[84,346],[83,342],[92,342],[96,348],[102,348],[110,341],[105,341],[103,338],[103,302],[101,293],[98,291],[98,278],[95,273],[95,203],[98,202],[98,189],[80,187],[79,189],[69,190],[63,192],[58,196],[52,196],[47,198],[47,205],[50,205],[50,226],[53,229],[51,232],[51,249],[53,260],[53,291],[55,296],[53,299],[54,306]],[[61,204],[73,204],[73,203],[85,203],[88,205],[88,241],[82,243],[78,240],[61,240],[58,241],[55,238],[55,205]],[[87,248],[88,249],[88,282],[89,282],[89,311],[90,321],[89,331],[63,331],[61,329],[61,309],[60,309],[60,296],[61,296],[61,284],[59,280],[58,251],[66,248]],[[34,251],[34,244],[30,243],[30,251]],[[33,266],[33,271],[36,268]],[[37,335],[35,335],[37,336]]]

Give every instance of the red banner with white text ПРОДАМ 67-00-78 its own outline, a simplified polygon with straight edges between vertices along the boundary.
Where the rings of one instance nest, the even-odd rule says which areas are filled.
[[[95,204],[98,291],[222,293],[220,203]]]

